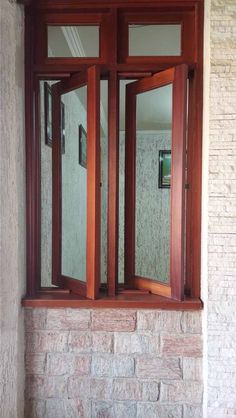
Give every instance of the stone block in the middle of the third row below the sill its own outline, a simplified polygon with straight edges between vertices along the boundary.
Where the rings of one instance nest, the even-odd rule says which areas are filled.
[[[93,376],[126,377],[134,374],[134,359],[127,356],[94,355]]]

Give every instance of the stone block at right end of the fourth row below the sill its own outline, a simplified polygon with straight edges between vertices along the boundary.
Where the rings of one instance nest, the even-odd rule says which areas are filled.
[[[201,404],[202,385],[199,382],[172,381],[161,383],[161,402],[183,402],[191,405]]]

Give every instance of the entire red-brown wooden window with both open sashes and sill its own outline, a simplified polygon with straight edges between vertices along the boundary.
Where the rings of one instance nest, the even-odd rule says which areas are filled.
[[[201,308],[204,1],[19,1],[25,306]]]

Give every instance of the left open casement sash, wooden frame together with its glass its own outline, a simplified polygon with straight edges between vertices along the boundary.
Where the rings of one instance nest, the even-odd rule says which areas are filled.
[[[79,101],[75,105],[76,96]],[[70,140],[64,154],[61,102],[66,104],[69,115]],[[82,129],[78,126],[81,119]],[[52,283],[90,299],[98,296],[100,285],[99,120],[98,67],[90,67],[52,87]],[[79,141],[83,141],[80,156]],[[75,246],[76,251],[70,251]]]

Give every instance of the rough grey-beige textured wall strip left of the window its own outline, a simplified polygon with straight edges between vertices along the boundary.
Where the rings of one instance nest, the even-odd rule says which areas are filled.
[[[25,164],[23,9],[0,2],[0,417],[23,416]]]

